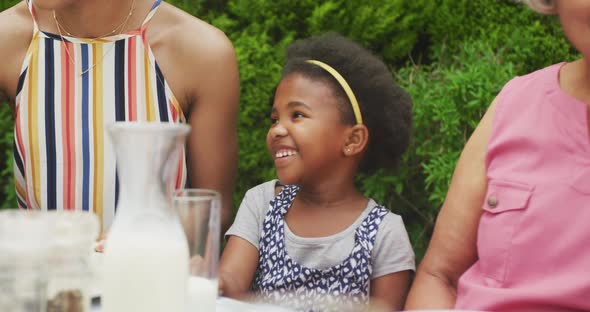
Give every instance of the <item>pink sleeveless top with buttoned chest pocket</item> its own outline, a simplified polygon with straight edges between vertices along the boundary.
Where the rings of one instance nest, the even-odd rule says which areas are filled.
[[[459,279],[456,308],[590,310],[588,105],[560,89],[562,65],[498,97],[479,259]]]

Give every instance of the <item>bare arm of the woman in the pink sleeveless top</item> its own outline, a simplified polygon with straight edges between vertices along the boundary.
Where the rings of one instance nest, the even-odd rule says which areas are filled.
[[[477,260],[477,228],[487,188],[485,157],[494,114],[495,101],[461,153],[410,290],[408,310],[453,308],[457,281]]]

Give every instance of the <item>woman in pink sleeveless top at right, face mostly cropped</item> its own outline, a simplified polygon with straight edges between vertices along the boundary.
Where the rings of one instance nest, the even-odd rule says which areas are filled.
[[[590,310],[590,1],[557,14],[582,59],[508,82],[467,142],[408,309]]]

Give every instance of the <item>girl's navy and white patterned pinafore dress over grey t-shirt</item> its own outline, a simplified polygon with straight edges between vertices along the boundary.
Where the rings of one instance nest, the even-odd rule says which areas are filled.
[[[285,186],[270,202],[260,237],[254,292],[262,301],[302,311],[359,311],[369,303],[371,252],[389,210],[375,206],[355,231],[350,255],[325,270],[304,267],[285,248],[284,220],[299,188]]]

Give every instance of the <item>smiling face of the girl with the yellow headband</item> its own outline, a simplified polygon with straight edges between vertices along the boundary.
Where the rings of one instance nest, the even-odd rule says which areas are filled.
[[[338,172],[351,127],[341,120],[337,99],[326,83],[299,74],[280,82],[266,144],[282,183],[318,182]]]

